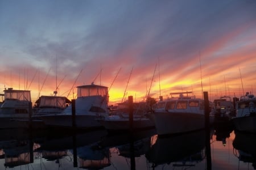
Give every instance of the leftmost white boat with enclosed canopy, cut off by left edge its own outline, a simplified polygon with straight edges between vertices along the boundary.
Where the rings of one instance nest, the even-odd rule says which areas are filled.
[[[5,100],[0,107],[0,129],[20,128],[23,124],[19,124],[13,120],[28,120],[30,112],[29,107],[31,104],[30,91],[7,88],[4,92]]]

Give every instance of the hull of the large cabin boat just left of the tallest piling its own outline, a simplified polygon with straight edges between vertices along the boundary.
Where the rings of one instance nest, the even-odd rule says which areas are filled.
[[[154,113],[158,135],[185,133],[205,128],[205,116],[198,113]]]

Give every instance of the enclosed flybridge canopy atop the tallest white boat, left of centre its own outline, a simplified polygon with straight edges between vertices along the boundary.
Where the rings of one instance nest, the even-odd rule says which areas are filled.
[[[108,97],[108,87],[99,86],[95,84],[77,86],[77,97],[86,97],[86,96],[104,96]]]

